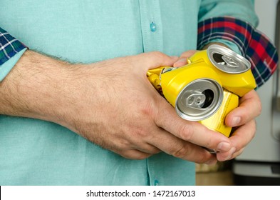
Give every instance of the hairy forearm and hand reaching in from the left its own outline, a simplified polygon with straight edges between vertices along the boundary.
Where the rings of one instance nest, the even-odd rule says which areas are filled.
[[[128,159],[165,151],[214,164],[216,156],[201,146],[232,157],[226,136],[177,116],[148,81],[147,70],[175,61],[152,52],[68,64],[26,51],[0,85],[0,113],[53,121]]]

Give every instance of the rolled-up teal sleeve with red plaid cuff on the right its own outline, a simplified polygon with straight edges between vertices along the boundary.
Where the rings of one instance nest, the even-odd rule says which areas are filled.
[[[279,59],[276,47],[266,35],[255,28],[258,20],[254,14],[254,6],[252,7],[254,1],[242,1],[239,5],[236,5],[239,1],[219,2],[220,5],[217,2],[214,4],[214,0],[204,0],[208,9],[202,9],[200,14],[197,49],[202,49],[210,42],[226,44],[250,61],[259,87],[276,71]],[[225,9],[229,6],[232,9]],[[247,12],[240,13],[246,7]]]

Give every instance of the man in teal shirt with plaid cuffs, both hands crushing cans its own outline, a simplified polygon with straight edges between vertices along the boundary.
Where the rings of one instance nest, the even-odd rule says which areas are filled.
[[[227,138],[177,116],[146,77],[211,42],[248,54],[253,1],[0,4],[0,184],[193,185],[194,162],[233,159],[253,138],[256,91],[227,116],[237,128]],[[259,86],[275,66],[252,66]]]

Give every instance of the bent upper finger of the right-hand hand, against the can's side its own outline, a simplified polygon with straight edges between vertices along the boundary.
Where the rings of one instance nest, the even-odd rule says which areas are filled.
[[[261,101],[256,91],[249,91],[239,101],[239,106],[231,111],[226,119],[227,126],[234,127],[246,124],[261,114]]]

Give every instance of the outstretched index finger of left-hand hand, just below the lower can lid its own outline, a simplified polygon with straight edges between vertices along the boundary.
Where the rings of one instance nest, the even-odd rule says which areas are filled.
[[[170,104],[162,102],[160,108],[160,111],[154,116],[155,123],[174,136],[216,151],[229,151],[231,149],[229,138],[223,134],[209,130],[198,122],[182,119]]]

